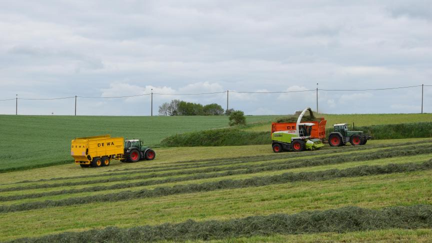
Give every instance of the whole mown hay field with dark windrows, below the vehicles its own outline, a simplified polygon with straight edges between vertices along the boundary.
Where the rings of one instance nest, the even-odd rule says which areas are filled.
[[[0,241],[432,240],[431,138],[155,150],[1,173]]]

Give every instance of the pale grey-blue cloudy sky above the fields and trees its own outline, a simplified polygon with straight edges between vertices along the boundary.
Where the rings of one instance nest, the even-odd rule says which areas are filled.
[[[0,99],[77,99],[80,115],[149,115],[149,93],[432,85],[428,0],[0,0]],[[246,114],[316,107],[315,91],[229,93]],[[154,95],[226,107],[226,93]],[[319,91],[319,111],[420,112],[421,87]],[[432,112],[432,86],[424,87]],[[73,114],[74,98],[18,100]],[[15,100],[0,101],[1,114]]]

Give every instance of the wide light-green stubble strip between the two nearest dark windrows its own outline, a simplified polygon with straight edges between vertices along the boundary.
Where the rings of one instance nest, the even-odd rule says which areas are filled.
[[[295,213],[347,205],[381,208],[432,204],[432,170],[331,180],[298,181],[117,202],[53,207],[4,213],[0,240],[40,236],[65,230],[116,225],[230,219],[248,215]],[[94,215],[104,215],[95,217]]]

